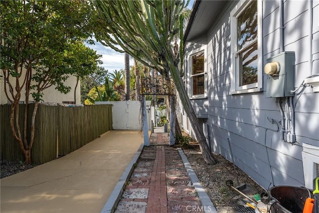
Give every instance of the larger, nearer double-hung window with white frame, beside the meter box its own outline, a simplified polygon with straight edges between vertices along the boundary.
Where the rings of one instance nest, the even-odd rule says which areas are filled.
[[[231,11],[232,94],[262,90],[261,0],[241,0]]]

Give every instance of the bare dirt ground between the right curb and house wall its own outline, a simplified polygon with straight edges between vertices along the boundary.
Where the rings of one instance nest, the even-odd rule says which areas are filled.
[[[221,155],[214,155],[217,163],[215,165],[206,164],[198,145],[187,146],[183,148],[183,152],[219,213],[232,213],[245,208],[244,204],[239,202],[242,198],[226,186],[226,180],[232,180],[234,187],[237,187],[234,166],[231,162]],[[262,187],[237,167],[236,173],[239,185],[246,184],[255,188],[259,193],[265,192]],[[246,211],[254,212],[251,208],[247,208],[243,212]]]

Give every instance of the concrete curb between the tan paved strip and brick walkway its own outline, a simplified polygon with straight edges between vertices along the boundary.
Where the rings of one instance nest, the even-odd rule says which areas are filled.
[[[116,184],[112,194],[110,195],[108,201],[104,205],[101,213],[114,213],[115,208],[118,205],[120,198],[124,192],[125,185],[132,175],[132,172],[134,170],[134,165],[139,160],[143,148],[144,148],[144,144],[142,143],[137,153],[134,155],[132,161],[129,163],[129,165],[126,167],[125,171],[123,172],[119,182]]]

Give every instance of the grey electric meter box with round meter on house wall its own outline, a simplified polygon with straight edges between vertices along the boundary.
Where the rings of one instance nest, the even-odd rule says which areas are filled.
[[[266,98],[294,96],[295,52],[282,52],[267,59],[264,72],[267,74]]]

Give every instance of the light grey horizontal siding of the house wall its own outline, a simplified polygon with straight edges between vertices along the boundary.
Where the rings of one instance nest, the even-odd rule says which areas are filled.
[[[279,0],[263,0],[263,61],[279,53]],[[274,185],[304,185],[302,151],[280,139],[277,125],[268,118],[280,120],[275,98],[265,92],[230,94],[230,11],[236,2],[228,1],[211,27],[197,38],[207,43],[207,99],[192,100],[196,113],[208,115],[213,151],[232,161],[227,138],[230,139],[235,164],[264,188]],[[311,74],[319,73],[319,0],[313,1],[314,24],[311,26],[309,1],[285,0],[285,50],[295,51],[295,88]],[[316,14],[315,14],[316,13]],[[317,17],[317,18],[316,18]],[[311,41],[310,27],[313,27]],[[206,39],[206,40],[203,40]],[[317,46],[315,46],[317,42]],[[313,52],[310,52],[310,49]],[[310,69],[310,57],[313,67]],[[266,88],[264,75],[264,88]],[[264,89],[265,90],[265,89]],[[319,93],[307,87],[294,98],[295,126],[299,144],[319,143]],[[285,110],[285,107],[284,107]]]

